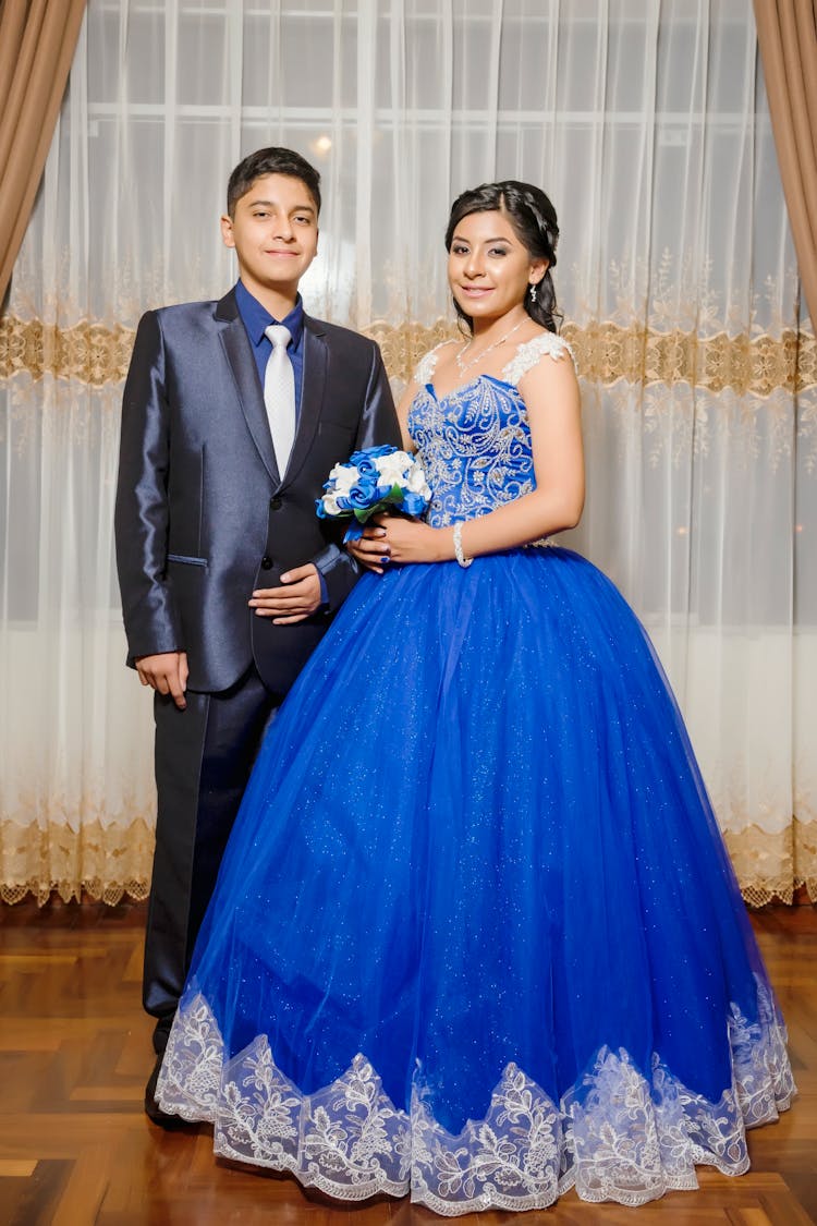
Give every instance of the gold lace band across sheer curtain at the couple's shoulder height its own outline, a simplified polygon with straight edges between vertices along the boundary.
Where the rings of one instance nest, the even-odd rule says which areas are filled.
[[[431,326],[375,322],[364,331],[380,343],[390,375],[403,380],[412,376],[427,349],[457,335],[447,320]],[[768,335],[730,337],[724,332],[703,337],[680,330],[659,332],[592,322],[585,327],[567,324],[563,336],[573,347],[579,374],[603,385],[619,380],[642,385],[686,383],[712,392],[730,387],[737,395],[755,396],[817,386],[817,341],[791,330],[779,340]],[[92,387],[119,383],[127,373],[134,337],[134,329],[120,325],[81,322],[58,327],[6,315],[0,319],[0,378],[28,374],[42,379],[50,374]]]

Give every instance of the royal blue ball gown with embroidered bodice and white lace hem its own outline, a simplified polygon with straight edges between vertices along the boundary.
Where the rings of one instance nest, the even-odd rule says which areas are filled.
[[[447,525],[533,488],[517,384],[409,425]],[[785,1030],[683,722],[562,548],[366,574],[271,726],[157,1097],[344,1200],[637,1205],[748,1167]]]

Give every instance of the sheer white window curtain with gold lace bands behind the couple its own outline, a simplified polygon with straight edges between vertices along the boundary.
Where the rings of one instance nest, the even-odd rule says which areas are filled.
[[[747,897],[817,897],[817,359],[745,0],[89,0],[0,320],[5,896],[146,890],[121,380],[145,308],[232,283],[224,185],[266,143],[323,174],[309,309],[376,335],[398,383],[452,327],[453,195],[549,191],[574,543],[655,639]]]

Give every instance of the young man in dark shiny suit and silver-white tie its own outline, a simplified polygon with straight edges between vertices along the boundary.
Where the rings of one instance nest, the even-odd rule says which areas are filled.
[[[148,311],[125,385],[115,536],[129,663],[156,691],[159,1060],[265,725],[358,575],[315,499],[356,447],[399,445],[377,346],[301,305],[320,205],[298,153],[245,158],[222,217],[238,284]],[[146,1110],[169,1123],[158,1063]]]

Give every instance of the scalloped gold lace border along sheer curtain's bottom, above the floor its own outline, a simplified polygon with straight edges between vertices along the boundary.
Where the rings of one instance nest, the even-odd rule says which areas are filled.
[[[777,834],[748,826],[726,831],[726,846],[752,907],[791,902],[805,885],[817,902],[817,821],[799,821]],[[42,905],[51,893],[64,902],[88,895],[111,906],[125,895],[148,895],[153,829],[142,818],[130,825],[86,821],[78,830],[51,821],[44,825],[0,823],[0,901],[20,902],[33,894]]]

